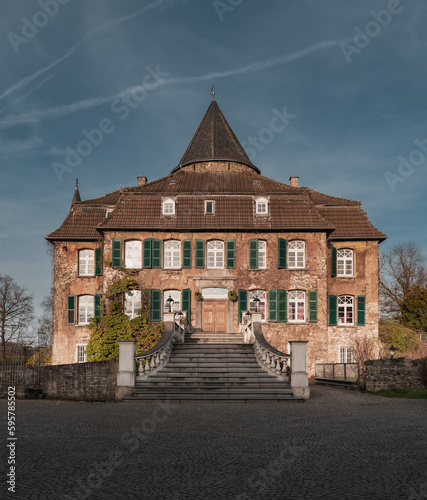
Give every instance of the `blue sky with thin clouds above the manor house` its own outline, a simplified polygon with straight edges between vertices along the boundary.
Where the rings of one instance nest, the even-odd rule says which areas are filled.
[[[44,237],[67,215],[75,178],[88,199],[167,175],[213,82],[263,175],[360,200],[384,248],[427,250],[425,2],[4,0],[1,10],[0,273],[36,305],[51,283]],[[277,113],[292,118],[272,130]],[[67,164],[101,124],[99,144]]]

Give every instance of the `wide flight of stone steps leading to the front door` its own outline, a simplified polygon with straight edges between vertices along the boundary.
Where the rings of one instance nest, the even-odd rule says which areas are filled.
[[[186,334],[175,344],[165,368],[137,381],[127,400],[298,401],[289,382],[258,364],[254,347],[241,334]]]

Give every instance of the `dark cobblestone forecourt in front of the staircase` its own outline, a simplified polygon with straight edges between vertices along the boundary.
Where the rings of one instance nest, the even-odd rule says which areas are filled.
[[[426,409],[324,387],[304,404],[18,401],[0,498],[425,499]]]

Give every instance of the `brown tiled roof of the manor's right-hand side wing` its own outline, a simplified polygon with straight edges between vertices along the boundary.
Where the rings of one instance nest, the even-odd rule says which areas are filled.
[[[371,224],[366,212],[360,207],[316,207],[320,214],[335,226],[330,239],[375,239],[384,240],[387,236]]]

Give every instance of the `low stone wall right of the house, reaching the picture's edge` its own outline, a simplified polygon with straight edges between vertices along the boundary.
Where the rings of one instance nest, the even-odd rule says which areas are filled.
[[[366,390],[425,389],[426,364],[405,358],[367,361]]]

